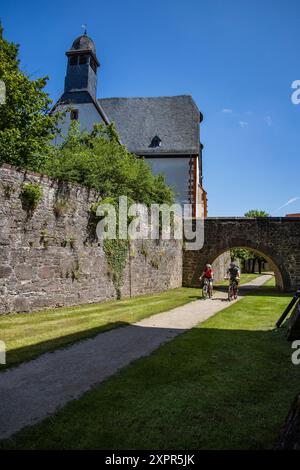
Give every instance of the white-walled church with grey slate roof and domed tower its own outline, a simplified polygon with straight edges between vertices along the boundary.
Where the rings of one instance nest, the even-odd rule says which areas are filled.
[[[203,117],[193,98],[180,95],[97,99],[100,62],[92,39],[86,34],[79,36],[66,55],[64,93],[53,108],[53,112],[67,110],[60,123],[62,133],[67,133],[74,119],[87,131],[95,123],[114,122],[121,143],[145,158],[155,174],[164,175],[175,191],[176,201],[191,204],[190,215],[206,216],[200,143]]]

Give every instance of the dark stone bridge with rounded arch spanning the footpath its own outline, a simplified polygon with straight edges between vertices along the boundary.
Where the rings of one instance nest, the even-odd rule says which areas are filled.
[[[205,219],[203,248],[184,252],[183,285],[198,286],[205,264],[232,248],[249,248],[263,256],[280,289],[300,287],[300,218],[289,217]]]

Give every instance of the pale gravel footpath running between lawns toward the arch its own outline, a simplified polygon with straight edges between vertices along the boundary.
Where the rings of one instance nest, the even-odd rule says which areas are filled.
[[[244,284],[240,295],[269,278],[264,275]],[[231,305],[226,299],[227,293],[218,291],[213,300],[190,302],[1,372],[0,439],[41,421],[130,362]]]

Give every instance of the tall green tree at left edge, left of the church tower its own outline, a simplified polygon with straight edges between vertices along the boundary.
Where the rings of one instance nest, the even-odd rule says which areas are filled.
[[[19,46],[3,38],[0,24],[0,80],[6,101],[0,105],[0,164],[39,170],[56,132],[58,115],[49,115],[47,77],[31,80],[20,70]]]

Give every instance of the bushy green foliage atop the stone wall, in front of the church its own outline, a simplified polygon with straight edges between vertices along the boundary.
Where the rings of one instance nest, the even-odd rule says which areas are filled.
[[[163,176],[154,176],[143,158],[121,145],[113,124],[97,124],[91,133],[73,122],[63,144],[52,149],[44,171],[61,180],[94,188],[103,197],[161,204],[173,202],[173,191]]]

